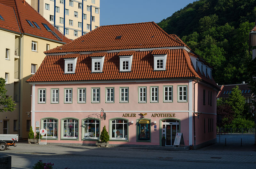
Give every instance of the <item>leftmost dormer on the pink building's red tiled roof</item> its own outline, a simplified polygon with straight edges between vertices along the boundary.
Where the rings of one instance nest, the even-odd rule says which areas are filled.
[[[79,54],[67,54],[62,57],[65,61],[64,73],[66,74],[75,73],[76,61],[78,56]]]

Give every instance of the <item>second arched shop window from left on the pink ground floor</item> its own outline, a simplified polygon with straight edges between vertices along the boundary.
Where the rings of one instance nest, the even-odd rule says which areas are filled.
[[[62,124],[63,138],[78,138],[78,120],[66,119]]]

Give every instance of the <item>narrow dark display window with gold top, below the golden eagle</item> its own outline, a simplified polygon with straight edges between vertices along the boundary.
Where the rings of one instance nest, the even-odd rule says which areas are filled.
[[[150,122],[148,120],[140,120],[138,128],[138,140],[150,140]]]

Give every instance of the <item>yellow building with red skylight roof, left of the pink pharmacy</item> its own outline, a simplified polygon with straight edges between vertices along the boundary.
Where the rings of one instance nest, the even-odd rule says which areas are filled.
[[[26,80],[36,73],[44,51],[70,40],[23,0],[0,0],[0,37],[0,77],[16,104],[13,112],[1,112],[0,134],[28,138],[31,85]]]

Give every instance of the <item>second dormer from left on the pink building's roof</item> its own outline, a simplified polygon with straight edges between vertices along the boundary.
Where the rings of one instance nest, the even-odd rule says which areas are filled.
[[[103,70],[104,59],[107,53],[93,53],[90,54],[92,58],[92,73],[100,73]]]

